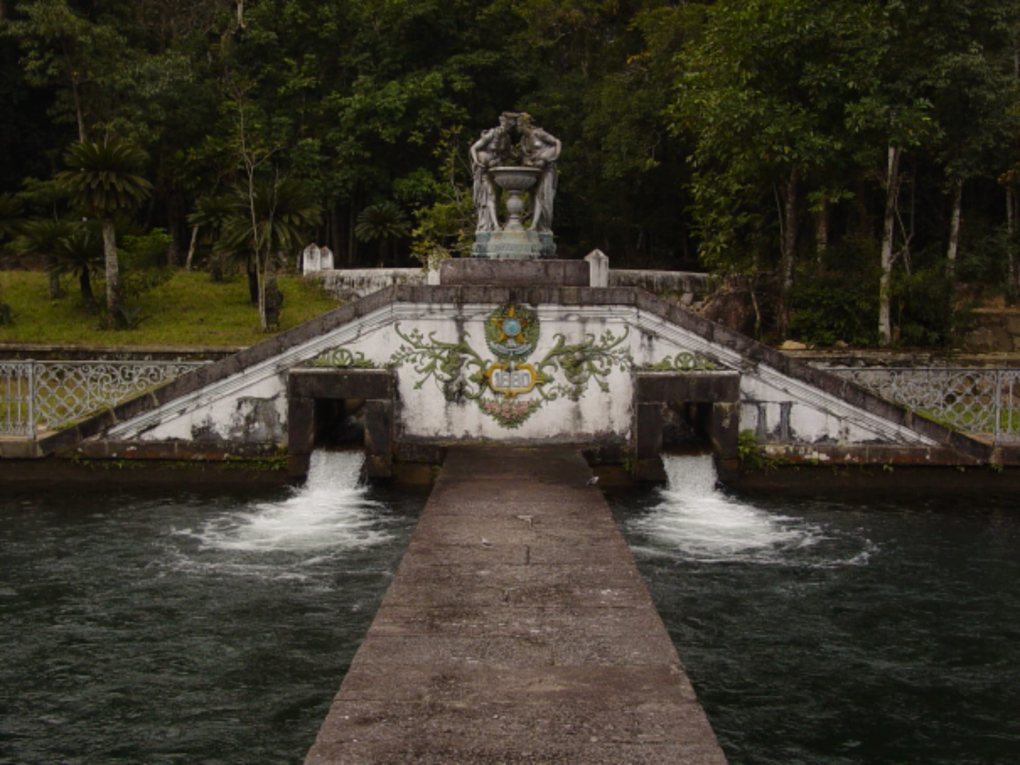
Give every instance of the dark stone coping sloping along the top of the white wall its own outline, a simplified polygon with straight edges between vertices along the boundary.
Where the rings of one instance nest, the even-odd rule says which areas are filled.
[[[865,411],[921,434],[939,446],[946,446],[982,462],[991,459],[992,447],[946,425],[915,415],[906,407],[894,404],[824,369],[792,358],[774,348],[727,329],[721,324],[697,316],[679,305],[631,287],[431,287],[394,286],[368,297],[341,306],[299,326],[287,329],[262,343],[232,356],[214,361],[177,377],[161,388],[107,409],[76,425],[40,441],[42,454],[66,449],[85,439],[95,438],[109,427],[155,409],[168,401],[193,393],[204,386],[236,374],[249,366],[336,329],[392,303],[466,305],[525,303],[528,305],[631,306],[658,316],[702,338],[717,343],[745,357],[748,363],[762,363],[795,379],[811,385]]]

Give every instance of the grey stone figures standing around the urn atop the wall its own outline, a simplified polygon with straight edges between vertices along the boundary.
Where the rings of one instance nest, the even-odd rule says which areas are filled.
[[[500,231],[499,189],[493,181],[492,168],[519,162],[542,171],[532,192],[529,230],[550,234],[560,149],[559,139],[531,124],[531,117],[524,112],[505,111],[497,128],[483,131],[470,152],[474,208],[478,214],[476,231]]]

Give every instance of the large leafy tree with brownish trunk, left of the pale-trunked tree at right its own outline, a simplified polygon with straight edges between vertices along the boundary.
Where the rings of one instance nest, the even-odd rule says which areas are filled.
[[[846,161],[847,112],[866,93],[881,40],[873,3],[720,0],[681,53],[671,115],[673,130],[696,144],[691,188],[702,255],[715,266],[746,262],[738,251],[748,249],[771,260],[777,242],[780,337],[805,186],[821,211],[848,193],[832,169]]]

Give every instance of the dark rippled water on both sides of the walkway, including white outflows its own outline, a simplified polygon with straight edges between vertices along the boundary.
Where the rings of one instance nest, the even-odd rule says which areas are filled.
[[[0,763],[299,763],[423,496],[5,488]],[[611,495],[731,763],[1020,762],[1020,501]],[[895,477],[895,476],[894,476]]]

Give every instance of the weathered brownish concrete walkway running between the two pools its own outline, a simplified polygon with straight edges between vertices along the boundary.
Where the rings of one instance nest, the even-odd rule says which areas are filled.
[[[591,474],[450,448],[308,765],[725,762]]]

